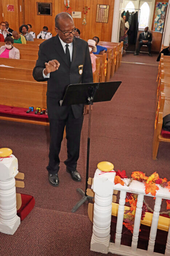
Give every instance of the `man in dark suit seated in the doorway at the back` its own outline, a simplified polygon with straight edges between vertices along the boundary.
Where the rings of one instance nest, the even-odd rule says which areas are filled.
[[[150,32],[148,32],[148,29],[149,29],[149,27],[146,27],[144,32],[139,34],[139,45],[138,45],[138,49],[137,49],[137,51],[135,52],[134,55],[139,55],[141,46],[142,45],[147,45],[148,46],[148,50],[149,50],[148,55],[151,56],[152,34]]]

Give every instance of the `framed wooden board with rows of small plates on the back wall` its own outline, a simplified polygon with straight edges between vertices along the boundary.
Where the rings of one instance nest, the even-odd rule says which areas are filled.
[[[108,12],[109,12],[109,5],[98,4],[96,22],[108,23]]]

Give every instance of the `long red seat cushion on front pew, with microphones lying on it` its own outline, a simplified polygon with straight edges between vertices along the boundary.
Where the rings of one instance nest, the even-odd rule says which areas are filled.
[[[35,114],[35,110],[33,112],[26,113],[26,111],[29,109],[28,108],[19,108],[19,107],[12,107],[12,106],[6,106],[6,105],[0,105],[0,113],[5,113],[5,114],[12,114],[12,115],[17,115],[17,116],[26,116],[26,117],[34,117],[34,118],[48,118],[48,115],[43,114],[40,115],[40,113]]]

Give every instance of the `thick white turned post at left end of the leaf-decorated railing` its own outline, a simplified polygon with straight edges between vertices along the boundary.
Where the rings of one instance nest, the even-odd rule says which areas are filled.
[[[95,172],[93,181],[95,203],[91,238],[91,250],[95,252],[108,253],[114,177],[114,172],[101,174],[99,169]]]

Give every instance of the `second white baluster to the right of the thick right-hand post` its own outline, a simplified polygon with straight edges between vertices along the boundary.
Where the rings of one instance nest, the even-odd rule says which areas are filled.
[[[144,198],[144,195],[138,195],[137,208],[135,212],[133,237],[132,237],[132,244],[131,244],[132,251],[137,250],[138,236],[139,236],[139,229],[140,229],[141,215],[142,215],[143,198]]]

